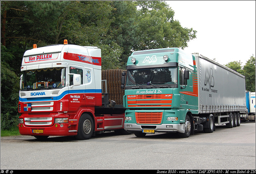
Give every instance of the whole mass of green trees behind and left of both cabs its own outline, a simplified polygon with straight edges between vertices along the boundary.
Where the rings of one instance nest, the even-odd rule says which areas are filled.
[[[33,44],[97,46],[103,70],[125,68],[132,51],[196,38],[173,16],[164,1],[1,1],[1,129],[16,126],[20,66]]]

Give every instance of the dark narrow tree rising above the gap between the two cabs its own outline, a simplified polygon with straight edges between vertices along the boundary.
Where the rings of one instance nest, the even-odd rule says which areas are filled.
[[[136,36],[136,31],[138,30],[138,23],[136,22],[137,9],[133,1],[113,1],[110,5],[113,7],[109,16],[112,22],[102,43],[106,45],[116,43],[120,46],[123,52],[119,61],[122,65],[126,63],[131,55],[132,46],[138,42],[138,37]]]

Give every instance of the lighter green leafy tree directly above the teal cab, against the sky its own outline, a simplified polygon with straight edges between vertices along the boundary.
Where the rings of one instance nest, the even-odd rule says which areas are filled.
[[[139,41],[134,51],[167,47],[187,47],[188,41],[196,38],[195,30],[183,28],[174,21],[174,11],[164,1],[136,1],[139,7],[137,18]]]

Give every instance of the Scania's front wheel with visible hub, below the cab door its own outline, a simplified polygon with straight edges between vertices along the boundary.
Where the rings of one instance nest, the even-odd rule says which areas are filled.
[[[92,117],[87,113],[81,115],[78,123],[78,131],[77,131],[76,139],[80,139],[80,140],[90,139],[90,137],[92,137],[93,131],[94,131],[94,123],[93,123]]]

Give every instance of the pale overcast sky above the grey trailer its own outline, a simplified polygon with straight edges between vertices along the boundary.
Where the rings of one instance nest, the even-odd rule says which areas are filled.
[[[197,31],[184,50],[216,59],[222,65],[255,57],[256,1],[166,1],[174,20]]]

